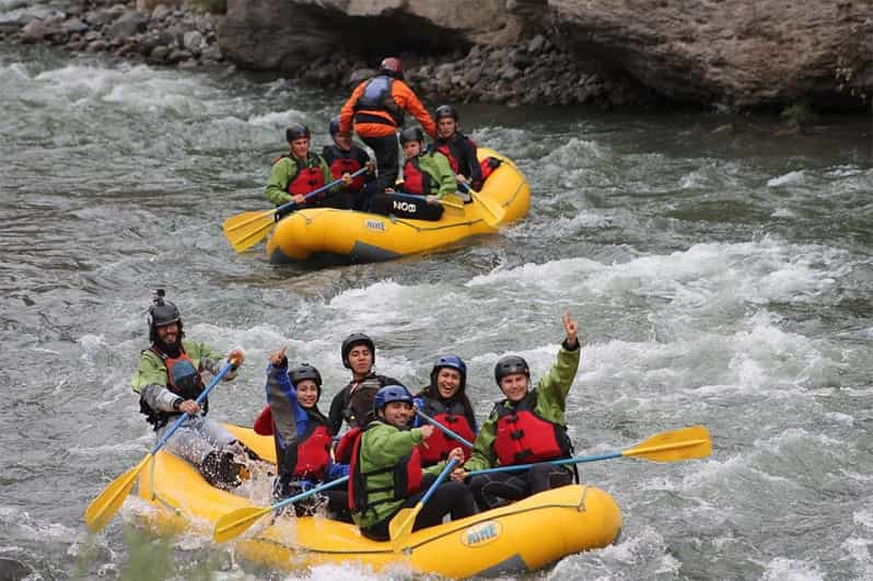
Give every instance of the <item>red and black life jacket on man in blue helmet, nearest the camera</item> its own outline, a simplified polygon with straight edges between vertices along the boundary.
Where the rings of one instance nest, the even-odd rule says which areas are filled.
[[[349,430],[350,432],[358,430],[351,437],[353,445],[349,465],[349,510],[352,512],[364,513],[379,504],[409,498],[421,489],[421,453],[418,446],[412,448],[410,454],[398,458],[392,466],[361,472],[361,442],[363,441],[364,432],[373,426],[375,426],[375,422],[371,422],[370,426],[363,429],[353,428]],[[388,473],[392,475],[391,485],[383,487],[369,485],[368,480],[372,476]],[[370,500],[371,495],[384,492],[392,493],[380,500]]]

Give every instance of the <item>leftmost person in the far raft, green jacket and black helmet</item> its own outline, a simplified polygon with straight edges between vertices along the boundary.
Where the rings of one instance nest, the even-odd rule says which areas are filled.
[[[306,199],[307,194],[334,181],[327,162],[317,153],[310,151],[311,137],[310,128],[305,125],[294,124],[286,129],[286,140],[291,151],[273,161],[267,182],[267,199],[276,206],[289,201],[293,201],[296,206],[304,204],[318,206],[318,200],[328,191],[331,194],[339,191],[340,185],[337,184],[328,191],[318,195],[317,199]],[[352,178],[348,173],[341,177],[344,185],[351,184]],[[283,209],[276,219],[280,220],[293,212],[296,206]]]

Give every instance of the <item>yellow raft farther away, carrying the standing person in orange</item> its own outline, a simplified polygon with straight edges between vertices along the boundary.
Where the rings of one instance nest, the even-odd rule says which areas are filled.
[[[478,197],[502,216],[499,221],[479,201],[461,204],[447,196],[438,221],[410,220],[333,208],[309,208],[282,219],[267,241],[271,263],[302,260],[374,263],[446,246],[477,234],[496,232],[523,218],[531,205],[531,188],[509,158],[479,148],[479,159],[494,156],[503,163],[488,177]],[[489,223],[490,222],[490,223]]]

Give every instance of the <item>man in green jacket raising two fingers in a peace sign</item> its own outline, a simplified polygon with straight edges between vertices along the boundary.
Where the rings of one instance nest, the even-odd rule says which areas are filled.
[[[470,488],[481,510],[499,502],[521,500],[573,481],[573,472],[545,463],[573,454],[567,434],[567,394],[579,369],[579,327],[570,313],[562,317],[567,334],[558,361],[536,388],[531,390],[531,368],[517,356],[505,356],[494,365],[494,380],[505,399],[494,406],[473,445],[473,457],[452,474],[463,480],[468,470],[537,464],[527,470],[476,476]]]

